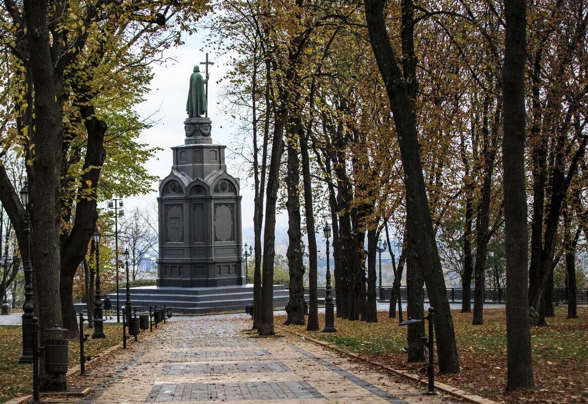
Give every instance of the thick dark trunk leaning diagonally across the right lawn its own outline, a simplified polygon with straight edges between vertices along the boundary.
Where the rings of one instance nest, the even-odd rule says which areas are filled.
[[[420,161],[415,115],[412,111],[406,79],[403,78],[395,51],[386,31],[381,0],[365,0],[366,20],[370,42],[377,65],[386,84],[396,133],[405,172],[406,209],[409,221],[409,238],[419,245],[416,259],[422,269],[429,293],[429,301],[435,308],[435,332],[439,371],[459,372],[459,360],[453,330],[453,319],[447,300],[445,278],[435,241],[435,231],[429,210],[429,202]]]

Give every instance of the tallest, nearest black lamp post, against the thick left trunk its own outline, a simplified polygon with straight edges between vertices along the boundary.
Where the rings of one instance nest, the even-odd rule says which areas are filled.
[[[21,189],[21,202],[25,211],[22,215],[24,246],[21,249],[22,266],[25,273],[25,302],[22,305],[22,356],[18,363],[33,362],[33,318],[35,316],[35,304],[33,302],[33,266],[31,263],[31,219],[29,215],[29,188],[28,182]]]

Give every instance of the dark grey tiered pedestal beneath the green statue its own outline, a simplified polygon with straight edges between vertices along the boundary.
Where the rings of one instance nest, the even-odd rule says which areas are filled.
[[[158,286],[245,285],[239,180],[226,172],[212,121],[188,118],[185,144],[159,183]]]

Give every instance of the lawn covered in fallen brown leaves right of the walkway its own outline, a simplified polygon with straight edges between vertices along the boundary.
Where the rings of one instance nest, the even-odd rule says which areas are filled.
[[[452,310],[462,370],[458,375],[436,375],[448,383],[483,397],[506,403],[588,403],[588,308],[578,308],[577,319],[566,319],[567,307],[556,308],[547,327],[531,329],[536,389],[506,393],[505,309],[484,310],[485,324],[472,325],[472,313]],[[276,325],[286,316],[276,316]],[[325,316],[319,314],[319,324]],[[406,345],[406,328],[378,313],[377,323],[335,319],[336,334],[307,332],[305,326],[286,329],[333,343],[346,352],[416,373],[421,364],[406,363],[400,349]]]

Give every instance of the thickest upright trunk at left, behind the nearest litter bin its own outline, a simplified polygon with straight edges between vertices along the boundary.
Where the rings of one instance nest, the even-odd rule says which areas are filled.
[[[59,221],[58,210],[61,163],[62,111],[64,93],[62,81],[54,75],[54,62],[49,49],[47,28],[47,2],[26,0],[24,2],[30,51],[29,64],[35,87],[35,122],[32,133],[35,158],[30,171],[34,176],[29,181],[31,207],[31,249],[34,263],[35,312],[39,326],[62,325],[61,302],[59,301]],[[58,75],[59,76],[59,75]],[[32,128],[31,128],[32,129]],[[42,332],[42,338],[62,338],[59,333]],[[42,361],[44,362],[44,361]],[[41,364],[41,389],[65,390],[64,376],[52,378],[44,373]]]

